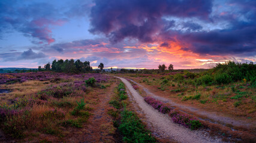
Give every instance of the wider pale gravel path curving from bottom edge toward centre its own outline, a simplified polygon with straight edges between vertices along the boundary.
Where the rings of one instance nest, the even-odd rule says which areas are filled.
[[[221,139],[210,138],[205,132],[200,130],[192,131],[173,123],[170,117],[166,114],[159,113],[159,111],[148,105],[144,101],[143,97],[141,97],[138,92],[132,88],[131,83],[129,83],[128,80],[121,77],[118,78],[125,83],[131,92],[132,97],[141,108],[141,111],[145,114],[147,123],[151,123],[149,126],[154,128],[152,130],[153,132],[156,132],[156,134],[163,135],[165,138],[174,139],[177,142],[221,142]]]

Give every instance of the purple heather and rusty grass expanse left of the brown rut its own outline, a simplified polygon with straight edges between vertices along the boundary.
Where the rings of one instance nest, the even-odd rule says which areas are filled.
[[[2,86],[13,88],[13,92],[1,96],[10,99],[0,102],[1,129],[14,139],[29,137],[29,132],[59,138],[68,135],[65,130],[83,128],[92,115],[91,106],[98,102],[92,94],[102,92],[101,87],[112,78],[97,73],[52,71],[5,73],[1,77]],[[94,80],[94,85],[86,83],[89,79]],[[26,87],[35,92],[29,92]]]

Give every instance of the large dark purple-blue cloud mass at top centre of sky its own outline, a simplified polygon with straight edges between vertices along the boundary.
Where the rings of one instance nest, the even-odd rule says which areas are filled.
[[[212,2],[204,0],[96,0],[91,10],[90,32],[104,33],[112,42],[125,38],[153,42],[153,36],[159,30],[170,26],[162,17],[198,17],[207,20],[211,8]]]

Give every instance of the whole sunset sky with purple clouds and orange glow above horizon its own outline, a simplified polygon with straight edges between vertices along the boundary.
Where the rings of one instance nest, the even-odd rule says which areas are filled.
[[[94,68],[256,64],[256,1],[0,1],[0,68],[61,58]]]

